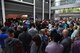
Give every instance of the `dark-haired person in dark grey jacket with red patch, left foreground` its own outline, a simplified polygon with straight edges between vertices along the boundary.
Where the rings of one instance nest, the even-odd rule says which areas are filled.
[[[19,39],[14,38],[14,30],[7,30],[8,38],[5,40],[3,53],[24,53],[22,43]]]

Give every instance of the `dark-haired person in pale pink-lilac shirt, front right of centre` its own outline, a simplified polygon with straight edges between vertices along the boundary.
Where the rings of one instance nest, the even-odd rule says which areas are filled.
[[[45,52],[46,53],[63,53],[63,45],[59,44],[60,35],[54,29],[51,31],[51,42],[47,45]]]

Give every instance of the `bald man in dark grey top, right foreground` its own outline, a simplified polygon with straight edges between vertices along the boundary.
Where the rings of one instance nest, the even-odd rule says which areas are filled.
[[[68,36],[69,31],[67,29],[63,30],[63,40],[61,41],[61,44],[64,46],[63,53],[70,53],[71,51],[71,39]]]

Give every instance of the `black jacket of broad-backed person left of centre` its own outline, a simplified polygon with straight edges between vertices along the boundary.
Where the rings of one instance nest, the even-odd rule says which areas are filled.
[[[32,37],[31,35],[29,35],[27,32],[22,32],[20,35],[19,35],[19,40],[22,42],[23,44],[23,48],[25,50],[27,50],[28,48],[30,48],[30,43],[32,41]]]

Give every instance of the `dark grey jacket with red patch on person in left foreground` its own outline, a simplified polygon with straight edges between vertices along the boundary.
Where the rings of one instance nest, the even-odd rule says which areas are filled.
[[[5,53],[23,53],[22,43],[18,39],[6,40]]]

